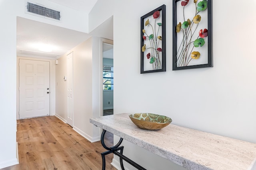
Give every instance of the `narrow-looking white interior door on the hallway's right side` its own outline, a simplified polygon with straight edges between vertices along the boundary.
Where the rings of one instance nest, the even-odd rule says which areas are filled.
[[[68,63],[68,119],[67,123],[73,127],[73,52],[67,55]]]

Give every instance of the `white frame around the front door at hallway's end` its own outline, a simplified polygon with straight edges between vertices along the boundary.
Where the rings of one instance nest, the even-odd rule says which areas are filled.
[[[17,57],[17,62],[16,62],[16,119],[20,119],[19,116],[19,109],[20,109],[20,93],[19,93],[19,60],[24,59],[24,60],[33,60],[33,61],[48,61],[50,62],[50,89],[51,89],[51,95],[50,95],[50,116],[55,115],[55,60],[49,60],[49,59],[40,59],[40,58],[29,58],[29,57]]]

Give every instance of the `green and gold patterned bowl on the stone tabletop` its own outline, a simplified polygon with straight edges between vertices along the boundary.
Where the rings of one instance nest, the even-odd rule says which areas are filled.
[[[141,129],[157,130],[166,127],[172,122],[172,119],[153,113],[135,113],[129,115],[132,122]]]

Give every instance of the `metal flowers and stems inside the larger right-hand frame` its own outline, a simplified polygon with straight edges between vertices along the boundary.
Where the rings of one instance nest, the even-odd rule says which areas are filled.
[[[194,16],[190,18],[192,21],[190,21],[189,18],[185,18],[186,7],[189,6],[190,2],[191,4],[193,3],[190,0],[183,0],[181,2],[183,8],[183,21],[178,21],[176,26],[177,36],[183,37],[181,43],[178,45],[176,53],[176,63],[178,67],[188,66],[191,60],[200,58],[200,47],[204,46],[204,38],[208,36],[208,29],[200,29],[198,26],[200,25],[201,20],[204,19],[200,16],[200,12],[207,8],[208,1],[202,0],[198,2],[197,0],[194,0],[195,12]],[[198,28],[200,31],[196,32]],[[195,51],[195,48],[198,47],[199,49]]]

